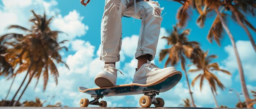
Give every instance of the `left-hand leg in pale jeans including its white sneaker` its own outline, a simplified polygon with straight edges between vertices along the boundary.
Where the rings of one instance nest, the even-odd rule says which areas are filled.
[[[115,62],[120,60],[121,17],[126,9],[127,0],[106,0],[105,11],[101,21],[101,57],[105,62],[103,71],[99,72],[94,82],[99,87],[116,85],[117,69]]]

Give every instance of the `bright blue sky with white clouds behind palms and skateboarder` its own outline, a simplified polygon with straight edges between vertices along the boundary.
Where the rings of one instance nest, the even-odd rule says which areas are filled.
[[[181,4],[165,0],[159,0],[159,4],[161,7],[164,7],[163,13],[166,13],[163,17],[164,19],[161,26],[160,37],[162,37],[168,35],[168,33],[172,31],[172,26],[176,24],[177,21],[175,15]],[[60,73],[58,78],[59,83],[56,86],[53,80],[50,79],[45,92],[42,91],[42,80],[40,80],[35,90],[34,84],[36,81],[32,81],[24,96],[22,96],[21,101],[34,100],[36,97],[39,97],[41,100],[46,101],[45,105],[48,105],[49,103],[55,104],[56,102],[61,101],[63,105],[79,107],[79,100],[81,98],[90,98],[89,95],[79,92],[78,87],[96,87],[93,79],[103,66],[103,62],[99,60],[98,51],[103,7],[103,0],[91,0],[87,7],[83,7],[79,0],[0,1],[0,35],[9,32],[20,32],[16,30],[5,30],[4,28],[10,24],[19,24],[29,28],[30,24],[27,20],[32,15],[30,13],[31,9],[34,9],[36,13],[40,14],[45,10],[49,16],[58,13],[52,21],[52,29],[69,34],[69,36],[60,35],[59,40],[70,40],[68,43],[64,44],[65,46],[68,46],[69,51],[61,52],[63,59],[70,66],[70,70],[67,70],[63,65],[58,65],[58,71]],[[213,62],[218,62],[221,68],[232,73],[232,76],[227,76],[220,72],[214,72],[220,78],[220,81],[227,87],[224,91],[218,89],[218,104],[235,107],[238,98],[234,93],[230,94],[228,88],[234,88],[238,92],[242,92],[242,90],[239,82],[237,63],[230,40],[227,35],[224,35],[224,38],[221,41],[221,46],[218,46],[215,42],[210,44],[209,41],[207,41],[206,36],[215,15],[213,14],[209,17],[204,28],[199,28],[195,24],[198,14],[195,11],[193,11],[193,13],[194,15],[191,17],[187,26],[187,28],[191,29],[189,41],[198,41],[204,50],[209,50],[209,54],[218,55],[218,58]],[[248,20],[252,25],[256,26],[255,17],[248,16]],[[245,72],[247,88],[249,91],[255,90],[256,73],[254,67],[256,65],[256,53],[252,49],[252,45],[243,28],[238,26],[238,24],[234,23],[231,19],[228,19],[227,24],[231,33],[234,35],[236,45],[238,46],[238,52],[242,59]],[[118,74],[117,84],[130,83],[132,81],[135,67],[137,66],[137,61],[134,59],[134,53],[137,47],[140,25],[140,20],[126,17],[122,19],[123,44],[120,53],[121,61],[117,63],[117,68],[124,72],[124,76]],[[253,31],[250,32],[252,33],[253,38],[256,39],[256,33]],[[159,40],[157,50],[159,51],[168,48],[165,43],[164,40]],[[163,68],[164,61],[159,63],[158,59],[159,57],[157,56],[153,62],[160,68]],[[181,70],[180,64],[175,67],[177,70]],[[187,67],[186,69],[189,70],[190,68]],[[197,74],[189,74],[189,81],[191,82]],[[24,74],[17,76],[18,78],[11,90],[11,96],[9,96],[8,99],[12,98],[24,76]],[[0,98],[5,98],[10,83],[11,81],[7,81],[6,78],[0,77],[0,88],[2,89]],[[202,92],[200,92],[198,83],[196,83],[192,90],[194,93],[195,104],[198,105],[198,107],[215,107],[207,81],[204,83]],[[52,96],[55,97],[52,98]],[[105,97],[103,100],[106,100],[110,107],[138,107],[139,105],[137,101],[140,96],[141,95]],[[182,99],[190,98],[185,76],[182,77],[182,80],[176,87],[159,96],[165,100],[165,106],[179,107],[179,104],[182,103]],[[244,100],[243,96],[241,96],[241,99]]]

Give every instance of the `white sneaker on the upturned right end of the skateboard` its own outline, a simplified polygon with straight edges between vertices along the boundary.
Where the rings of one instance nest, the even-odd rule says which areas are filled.
[[[135,72],[132,83],[150,84],[175,71],[177,70],[174,67],[160,69],[150,61],[147,61]]]

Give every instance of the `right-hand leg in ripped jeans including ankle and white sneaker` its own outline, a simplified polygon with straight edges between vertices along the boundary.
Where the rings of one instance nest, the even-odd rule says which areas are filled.
[[[139,42],[135,58],[138,59],[138,68],[133,76],[132,83],[150,84],[161,80],[177,71],[174,67],[158,68],[150,63],[155,58],[157,42],[162,22],[162,9],[158,2],[136,2],[135,6],[128,7],[125,15],[141,19]],[[136,10],[136,12],[135,12]]]

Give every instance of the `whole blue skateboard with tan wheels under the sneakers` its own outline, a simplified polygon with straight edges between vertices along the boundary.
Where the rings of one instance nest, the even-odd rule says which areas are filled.
[[[124,84],[114,85],[110,87],[98,87],[98,88],[85,88],[79,87],[80,92],[90,94],[94,100],[90,101],[87,98],[80,100],[81,107],[88,107],[88,105],[99,105],[100,107],[107,107],[106,101],[100,101],[100,98],[104,96],[124,96],[124,95],[136,95],[144,94],[139,99],[139,105],[141,107],[150,107],[152,104],[155,107],[164,107],[164,100],[162,98],[155,98],[159,93],[166,92],[173,88],[181,79],[182,73],[180,71],[172,72],[167,76],[150,84]]]

